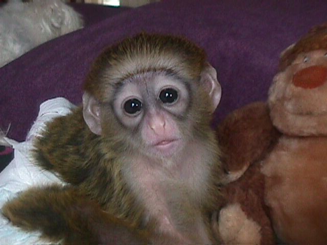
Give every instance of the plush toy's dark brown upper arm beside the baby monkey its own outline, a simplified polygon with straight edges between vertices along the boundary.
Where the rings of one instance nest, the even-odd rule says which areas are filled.
[[[230,180],[238,179],[251,163],[263,157],[279,135],[264,102],[249,104],[227,115],[217,128],[217,137]]]

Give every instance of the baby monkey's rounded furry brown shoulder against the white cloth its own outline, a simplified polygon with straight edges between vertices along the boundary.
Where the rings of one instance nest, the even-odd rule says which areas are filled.
[[[88,159],[92,145],[97,145],[98,136],[89,131],[82,110],[78,107],[48,122],[33,143],[32,155],[36,164],[58,173],[70,183],[79,183],[85,178],[85,159]]]

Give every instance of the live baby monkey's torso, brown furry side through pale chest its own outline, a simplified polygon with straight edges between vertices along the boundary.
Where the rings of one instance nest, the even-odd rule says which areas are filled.
[[[122,155],[111,144],[88,130],[79,108],[47,126],[34,156],[39,166],[137,228],[155,226],[161,234],[181,234],[181,240],[211,241],[202,211],[215,200],[208,194],[218,157],[213,149],[190,144],[179,162],[149,165],[144,156]]]

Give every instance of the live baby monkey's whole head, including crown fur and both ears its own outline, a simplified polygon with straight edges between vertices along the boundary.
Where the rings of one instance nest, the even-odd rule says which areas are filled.
[[[201,48],[184,38],[145,33],[107,48],[84,89],[91,132],[109,139],[115,150],[166,158],[194,138],[208,137],[221,97],[217,72]]]

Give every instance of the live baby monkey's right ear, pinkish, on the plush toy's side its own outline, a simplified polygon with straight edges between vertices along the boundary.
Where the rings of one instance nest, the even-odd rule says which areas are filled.
[[[208,92],[212,101],[212,112],[214,112],[221,99],[221,86],[217,79],[217,71],[211,64],[207,63],[201,72],[201,84]]]

